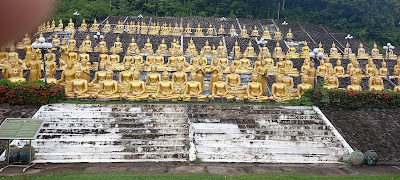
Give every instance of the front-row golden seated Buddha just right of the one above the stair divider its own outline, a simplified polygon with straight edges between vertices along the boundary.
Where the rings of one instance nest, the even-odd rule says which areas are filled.
[[[228,84],[223,82],[224,74],[220,73],[217,75],[217,81],[213,83],[211,88],[211,95],[209,99],[215,98],[226,98],[227,100],[233,100],[235,97],[228,94]]]

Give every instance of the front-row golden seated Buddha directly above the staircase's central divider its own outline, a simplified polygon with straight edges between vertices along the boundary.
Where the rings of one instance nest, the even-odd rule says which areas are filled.
[[[182,99],[184,101],[205,101],[207,96],[202,95],[200,82],[196,81],[196,72],[190,74],[190,81],[185,84]]]

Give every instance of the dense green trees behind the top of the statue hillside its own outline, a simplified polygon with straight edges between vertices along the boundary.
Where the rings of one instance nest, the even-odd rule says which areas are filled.
[[[202,16],[308,21],[360,36],[370,45],[400,45],[399,0],[59,0],[55,19],[78,11],[93,21],[113,16]],[[58,22],[58,21],[57,21]]]

